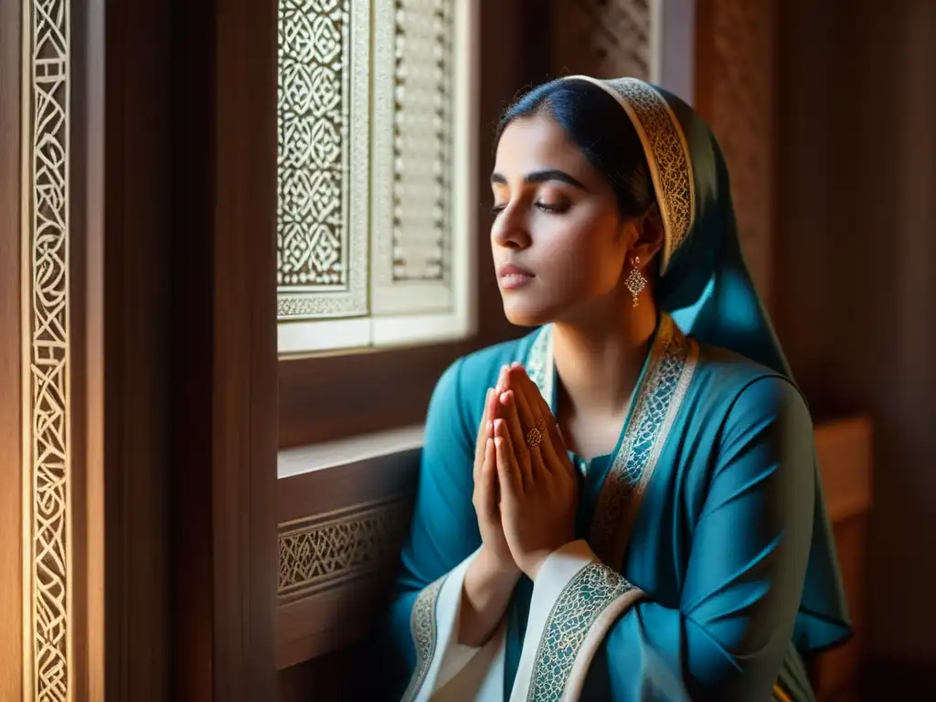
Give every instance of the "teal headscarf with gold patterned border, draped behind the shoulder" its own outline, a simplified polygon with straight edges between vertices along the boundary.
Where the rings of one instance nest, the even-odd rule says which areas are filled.
[[[665,227],[656,287],[660,309],[699,342],[730,349],[794,381],[744,261],[728,170],[708,124],[679,97],[643,80],[567,80],[587,80],[614,97],[643,144]],[[812,548],[794,632],[803,652],[851,635],[818,465],[814,479]]]

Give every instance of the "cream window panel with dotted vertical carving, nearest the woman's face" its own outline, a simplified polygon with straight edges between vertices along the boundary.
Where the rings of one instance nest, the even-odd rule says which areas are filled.
[[[453,217],[466,186],[455,163],[457,103],[472,55],[456,17],[464,0],[376,0],[373,106],[373,314],[447,312]],[[472,154],[474,157],[474,154]],[[463,261],[455,261],[461,265]]]

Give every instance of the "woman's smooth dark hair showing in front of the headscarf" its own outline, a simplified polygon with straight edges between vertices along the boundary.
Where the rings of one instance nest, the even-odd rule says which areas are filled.
[[[545,114],[563,127],[592,168],[607,178],[624,217],[647,212],[656,201],[650,167],[634,124],[618,101],[588,80],[552,80],[511,105],[497,125],[495,143],[508,124]]]

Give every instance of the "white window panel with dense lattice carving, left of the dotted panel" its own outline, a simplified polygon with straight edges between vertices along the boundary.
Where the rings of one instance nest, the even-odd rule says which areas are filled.
[[[367,2],[279,3],[281,319],[367,313]]]

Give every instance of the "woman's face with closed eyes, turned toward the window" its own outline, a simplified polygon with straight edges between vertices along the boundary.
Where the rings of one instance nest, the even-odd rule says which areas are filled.
[[[573,318],[620,295],[636,231],[629,236],[610,183],[559,124],[547,115],[509,124],[490,187],[494,269],[511,323]]]

